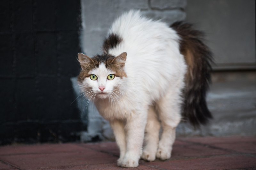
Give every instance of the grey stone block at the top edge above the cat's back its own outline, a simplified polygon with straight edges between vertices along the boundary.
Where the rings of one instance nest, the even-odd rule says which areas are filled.
[[[152,9],[157,10],[170,10],[175,8],[185,8],[187,5],[186,0],[151,0],[150,6]]]

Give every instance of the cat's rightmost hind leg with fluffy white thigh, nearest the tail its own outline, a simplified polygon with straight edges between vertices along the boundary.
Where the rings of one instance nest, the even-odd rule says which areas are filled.
[[[171,157],[172,144],[175,140],[175,131],[181,119],[181,89],[177,86],[169,88],[165,96],[157,104],[157,112],[163,133],[158,143],[156,158],[165,160]]]

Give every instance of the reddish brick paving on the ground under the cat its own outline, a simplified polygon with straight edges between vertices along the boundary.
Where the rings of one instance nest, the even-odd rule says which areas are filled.
[[[123,169],[116,143],[9,145],[0,147],[3,169]],[[140,160],[135,169],[256,169],[256,137],[177,138],[172,158]]]

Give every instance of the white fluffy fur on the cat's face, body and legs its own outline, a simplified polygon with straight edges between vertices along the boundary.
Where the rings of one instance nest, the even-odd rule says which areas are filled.
[[[102,64],[91,72],[98,76],[98,81],[86,78],[83,85],[92,88],[98,98],[95,100],[98,111],[113,128],[120,148],[117,164],[137,167],[140,158],[168,159],[181,118],[180,95],[186,73],[179,36],[166,23],[143,17],[139,11],[130,11],[116,19],[111,33],[121,37],[122,42],[110,49],[109,54],[118,56],[127,52],[124,66],[127,77],[107,80],[113,72]],[[100,94],[99,86],[105,86],[107,94]],[[159,120],[163,128],[160,141]],[[147,132],[145,137],[144,132]]]

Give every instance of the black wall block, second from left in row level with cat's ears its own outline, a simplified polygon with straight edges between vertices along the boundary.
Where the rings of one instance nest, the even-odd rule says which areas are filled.
[[[33,33],[15,35],[16,72],[18,76],[36,75],[36,58]]]

